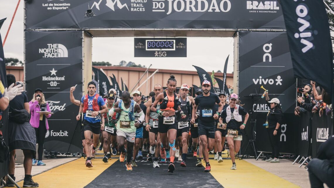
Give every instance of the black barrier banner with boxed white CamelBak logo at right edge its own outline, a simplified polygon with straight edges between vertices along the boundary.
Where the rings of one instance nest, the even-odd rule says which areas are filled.
[[[333,119],[325,113],[319,117],[319,113],[312,117],[312,157],[317,155],[320,145],[333,134]]]

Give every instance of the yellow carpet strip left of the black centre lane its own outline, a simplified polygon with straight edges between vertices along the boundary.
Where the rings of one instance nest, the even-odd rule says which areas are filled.
[[[114,157],[114,156],[113,156]],[[115,156],[116,157],[116,156]],[[71,187],[82,188],[93,181],[98,175],[114,164],[118,159],[104,163],[102,159],[93,159],[92,168],[85,165],[86,159],[79,158],[54,169],[33,176],[34,182],[41,188]],[[23,181],[18,182],[20,187]]]

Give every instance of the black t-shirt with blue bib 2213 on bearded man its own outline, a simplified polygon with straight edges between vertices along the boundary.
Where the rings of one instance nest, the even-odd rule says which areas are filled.
[[[200,116],[198,117],[198,119],[208,123],[214,122],[213,115],[217,112],[215,106],[218,103],[220,103],[220,99],[218,95],[214,93],[210,92],[209,96],[203,96],[203,94],[198,95],[195,98],[195,104],[200,109]]]

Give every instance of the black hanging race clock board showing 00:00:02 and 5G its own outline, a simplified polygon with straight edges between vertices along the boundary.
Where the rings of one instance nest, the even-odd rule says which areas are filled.
[[[135,57],[187,57],[187,38],[135,38]]]

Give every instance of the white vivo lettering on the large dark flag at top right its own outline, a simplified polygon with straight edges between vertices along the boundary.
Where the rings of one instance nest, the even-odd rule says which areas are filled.
[[[297,0],[295,0],[297,1]],[[306,19],[309,19],[307,14],[309,13],[308,8],[304,4],[299,4],[296,7],[296,14],[299,16],[297,21],[302,24],[302,26],[299,27],[300,33],[295,33],[295,38],[301,37],[300,43],[305,44],[306,46],[302,49],[303,53],[306,53],[313,47],[313,43],[310,41],[312,40],[312,32],[303,32],[306,28],[312,28],[312,25],[307,20],[304,20],[303,18],[306,17]],[[315,31],[316,32],[316,31]],[[305,39],[304,39],[305,38]]]

